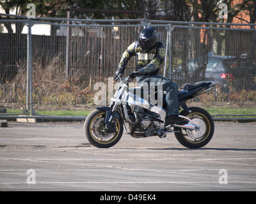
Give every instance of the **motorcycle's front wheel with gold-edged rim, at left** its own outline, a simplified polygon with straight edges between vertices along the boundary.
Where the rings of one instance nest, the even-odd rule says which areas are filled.
[[[93,110],[84,121],[84,133],[88,141],[95,147],[109,148],[119,142],[123,135],[124,127],[122,119],[113,119],[115,133],[105,130],[104,110]]]

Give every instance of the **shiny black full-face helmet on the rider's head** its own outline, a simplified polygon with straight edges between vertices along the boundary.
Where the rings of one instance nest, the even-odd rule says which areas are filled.
[[[143,52],[147,52],[157,43],[157,32],[154,27],[147,27],[140,33],[139,45]]]

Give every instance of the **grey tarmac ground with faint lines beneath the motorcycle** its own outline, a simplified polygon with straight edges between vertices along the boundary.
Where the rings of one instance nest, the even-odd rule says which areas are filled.
[[[0,128],[0,191],[255,191],[256,122],[215,122],[201,149],[123,135],[97,149],[82,122]]]

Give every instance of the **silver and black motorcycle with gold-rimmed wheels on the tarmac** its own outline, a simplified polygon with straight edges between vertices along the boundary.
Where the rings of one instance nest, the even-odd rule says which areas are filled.
[[[93,110],[84,121],[84,132],[88,141],[95,147],[109,148],[116,145],[123,132],[134,138],[159,136],[165,138],[166,133],[174,133],[178,142],[189,149],[204,147],[214,134],[214,122],[211,115],[199,107],[188,107],[186,101],[205,94],[213,89],[215,84],[197,82],[184,84],[177,92],[179,99],[179,117],[187,120],[187,124],[165,125],[166,101],[162,94],[163,105],[150,102],[145,95],[159,96],[159,91],[145,90],[143,87],[130,87],[130,78],[118,75],[120,84],[111,98],[111,105],[99,106]],[[147,94],[145,94],[147,93]]]

